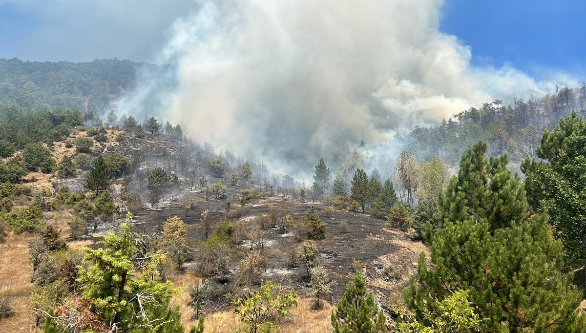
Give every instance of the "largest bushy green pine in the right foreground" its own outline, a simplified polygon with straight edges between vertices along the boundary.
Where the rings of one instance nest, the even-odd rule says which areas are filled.
[[[430,244],[434,268],[422,254],[407,304],[427,326],[425,313],[457,290],[469,290],[481,331],[502,322],[512,332],[582,331],[580,295],[560,271],[561,246],[546,216],[530,213],[507,157],[486,159],[486,150],[479,142],[462,157],[458,176],[440,197],[441,226]]]

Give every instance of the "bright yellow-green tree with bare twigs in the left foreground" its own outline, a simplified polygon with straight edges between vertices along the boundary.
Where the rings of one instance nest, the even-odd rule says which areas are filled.
[[[170,281],[158,278],[158,269],[164,263],[163,253],[144,254],[136,248],[131,219],[129,213],[117,233],[99,236],[100,246],[87,248],[85,265],[77,266],[81,293],[93,302],[94,314],[103,323],[115,324],[122,330],[162,324],[164,321],[158,318],[167,312],[175,293]]]

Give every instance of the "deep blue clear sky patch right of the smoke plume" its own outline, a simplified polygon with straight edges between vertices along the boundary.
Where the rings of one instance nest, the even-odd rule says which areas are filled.
[[[446,0],[440,29],[472,46],[474,64],[584,73],[585,15],[582,0]]]

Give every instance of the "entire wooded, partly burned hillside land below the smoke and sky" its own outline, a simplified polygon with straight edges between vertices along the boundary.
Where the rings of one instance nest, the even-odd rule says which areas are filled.
[[[110,110],[137,66],[0,60],[3,331],[586,330],[586,84],[283,175]]]

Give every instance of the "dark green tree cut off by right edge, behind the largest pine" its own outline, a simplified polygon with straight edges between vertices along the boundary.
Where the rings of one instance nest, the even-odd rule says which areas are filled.
[[[537,157],[522,170],[526,191],[536,210],[547,210],[556,236],[564,244],[565,263],[577,269],[586,260],[586,121],[574,112],[544,131]]]

